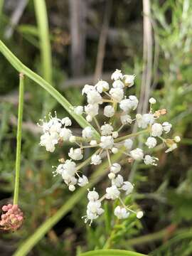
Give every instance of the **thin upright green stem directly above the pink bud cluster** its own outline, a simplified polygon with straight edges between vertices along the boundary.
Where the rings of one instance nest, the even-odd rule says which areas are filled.
[[[14,204],[18,204],[19,177],[21,168],[21,129],[23,119],[23,93],[24,93],[24,76],[19,75],[19,95],[18,95],[18,122],[16,134],[16,178],[14,188]]]

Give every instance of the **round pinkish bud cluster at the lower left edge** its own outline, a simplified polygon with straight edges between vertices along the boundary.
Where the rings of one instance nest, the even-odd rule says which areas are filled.
[[[21,227],[23,223],[23,213],[18,205],[12,205],[9,203],[7,206],[3,206],[4,213],[1,215],[0,225],[4,230],[15,231]]]

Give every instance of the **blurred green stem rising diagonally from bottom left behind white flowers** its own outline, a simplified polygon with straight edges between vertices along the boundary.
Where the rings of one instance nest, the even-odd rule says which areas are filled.
[[[112,156],[112,161],[118,161],[121,157],[121,154],[117,153]],[[27,240],[25,240],[20,247],[16,250],[14,253],[14,256],[24,256],[27,255],[28,252],[31,251],[31,249],[38,243],[41,238],[43,238],[46,233],[48,233],[48,230],[50,230],[53,225],[58,223],[58,221],[63,218],[65,214],[67,214],[73,206],[75,206],[76,203],[80,201],[82,196],[85,195],[87,188],[91,188],[92,186],[99,181],[103,175],[106,174],[106,170],[108,166],[108,161],[105,161],[103,164],[100,165],[100,167],[97,169],[97,171],[90,176],[90,183],[88,186],[79,188],[78,191],[73,193],[73,196],[70,197],[68,201],[66,201],[63,206],[48,220],[46,220],[39,228],[36,229],[35,233],[31,235]]]

